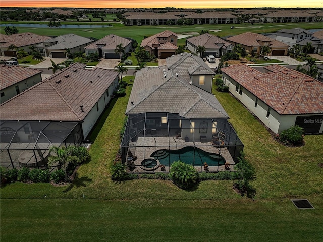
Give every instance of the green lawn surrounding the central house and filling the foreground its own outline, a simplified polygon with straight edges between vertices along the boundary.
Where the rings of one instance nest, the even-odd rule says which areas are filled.
[[[130,82],[133,76],[124,77]],[[74,183],[9,184],[1,189],[4,241],[321,241],[323,239],[323,135],[305,146],[277,143],[228,93],[214,92],[256,167],[255,200],[232,181],[203,181],[184,191],[171,181],[115,183],[110,166],[131,92],[113,99],[90,140],[91,160]],[[83,198],[84,195],[84,198]],[[307,198],[314,210],[297,210],[290,198]]]

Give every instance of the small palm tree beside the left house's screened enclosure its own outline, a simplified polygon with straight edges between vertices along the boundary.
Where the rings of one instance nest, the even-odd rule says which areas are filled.
[[[67,166],[69,165],[69,163],[71,162],[79,162],[80,159],[73,155],[73,149],[74,147],[72,146],[68,146],[68,147],[57,147],[57,146],[52,146],[49,149],[50,153],[55,153],[55,155],[53,156],[49,156],[48,157],[48,165],[51,166],[55,163],[58,163],[61,168],[64,170],[64,174],[65,174],[65,181],[67,181]]]

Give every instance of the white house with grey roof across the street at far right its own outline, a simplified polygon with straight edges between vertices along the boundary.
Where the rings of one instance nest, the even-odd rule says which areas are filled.
[[[316,38],[313,32],[302,28],[282,29],[276,33],[276,40],[279,40],[292,47],[295,44],[304,46],[311,43],[311,49],[307,51],[309,54],[320,53],[322,46],[322,39]]]

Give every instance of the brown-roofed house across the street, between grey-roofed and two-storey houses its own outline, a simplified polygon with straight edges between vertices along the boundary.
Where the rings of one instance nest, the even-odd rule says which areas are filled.
[[[121,53],[116,54],[115,49],[117,45],[122,44],[125,48],[125,54],[127,54],[131,50],[131,40],[127,38],[123,38],[114,34],[109,34],[102,39],[86,46],[85,54],[88,56],[91,53],[97,53],[99,58],[104,59],[121,59]]]

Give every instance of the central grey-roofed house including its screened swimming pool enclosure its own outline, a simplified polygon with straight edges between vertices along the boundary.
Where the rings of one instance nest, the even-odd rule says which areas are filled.
[[[135,157],[134,172],[160,171],[158,165],[169,171],[175,160],[199,171],[204,162],[210,171],[224,170],[224,162],[233,165],[243,144],[211,93],[213,75],[203,59],[188,53],[139,70],[126,110],[123,162]]]

